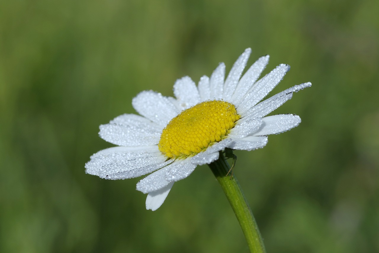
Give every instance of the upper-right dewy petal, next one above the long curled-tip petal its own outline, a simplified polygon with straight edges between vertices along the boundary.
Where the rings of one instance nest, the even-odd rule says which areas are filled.
[[[247,93],[246,97],[238,104],[240,112],[249,110],[251,107],[261,101],[267,94],[275,88],[275,86],[283,79],[290,66],[280,64],[276,69],[265,75],[259,80]]]

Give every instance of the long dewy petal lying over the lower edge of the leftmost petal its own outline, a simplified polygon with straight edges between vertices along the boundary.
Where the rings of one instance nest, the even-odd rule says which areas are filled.
[[[166,158],[162,154],[151,154],[143,158],[105,165],[100,168],[99,177],[113,180],[136,178],[172,163],[172,160],[166,161]]]

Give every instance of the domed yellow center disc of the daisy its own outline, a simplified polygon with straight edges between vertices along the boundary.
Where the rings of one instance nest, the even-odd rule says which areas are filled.
[[[163,129],[158,148],[174,159],[198,154],[225,139],[238,119],[236,108],[228,102],[202,102],[171,119]]]

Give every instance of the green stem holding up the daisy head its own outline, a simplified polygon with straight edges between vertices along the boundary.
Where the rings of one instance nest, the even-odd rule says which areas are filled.
[[[219,159],[209,164],[209,167],[213,174],[215,174],[217,181],[220,183],[222,190],[224,190],[224,193],[232,206],[246,238],[250,252],[265,253],[266,250],[265,245],[263,245],[262,236],[259,233],[257,223],[255,222],[251,209],[247,204],[246,198],[242,193],[240,184],[238,184],[235,176],[231,179],[229,176],[226,176],[230,166],[222,152],[220,152]]]

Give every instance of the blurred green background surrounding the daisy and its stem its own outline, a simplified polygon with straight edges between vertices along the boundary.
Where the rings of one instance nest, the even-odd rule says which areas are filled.
[[[248,252],[207,166],[145,210],[140,178],[85,174],[99,125],[143,90],[227,71],[247,47],[299,127],[235,152],[268,252],[379,251],[379,1],[0,2],[0,251]]]

